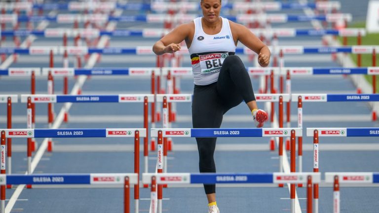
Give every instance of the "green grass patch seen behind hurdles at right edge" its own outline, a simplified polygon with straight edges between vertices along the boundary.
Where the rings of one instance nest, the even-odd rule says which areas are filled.
[[[366,24],[364,22],[355,23],[349,28],[365,28]],[[338,38],[342,44],[342,37]],[[357,45],[356,37],[347,37],[347,45]],[[362,45],[379,45],[379,34],[367,34],[366,36],[362,36]],[[357,64],[357,55],[350,54],[350,58]],[[377,53],[377,67],[379,66],[379,53]],[[372,67],[373,66],[373,58],[371,54],[362,54],[362,67]],[[372,84],[372,76],[366,75],[365,78],[367,81]],[[379,77],[377,77],[377,85],[379,85]],[[377,88],[377,93],[379,93],[379,88]]]

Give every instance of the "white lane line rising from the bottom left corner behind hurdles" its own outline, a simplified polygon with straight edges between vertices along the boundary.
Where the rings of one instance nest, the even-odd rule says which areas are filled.
[[[121,13],[122,13],[121,10],[117,10],[115,12],[116,16],[119,16]],[[110,22],[107,26],[107,30],[112,31],[112,30],[114,30],[114,27],[115,27],[115,22]],[[99,40],[97,47],[103,48],[109,39],[110,39],[109,36],[102,36]],[[92,68],[96,63],[97,58],[98,58],[97,53],[91,54],[90,58],[88,59],[87,65],[84,68]],[[76,83],[75,83],[75,85],[71,91],[71,95],[77,94],[78,90],[82,87],[82,85],[84,84],[86,79],[87,79],[86,75],[81,75],[77,78],[77,81],[76,81]],[[65,111],[69,111],[71,106],[72,106],[72,103],[67,103],[67,104],[65,104],[65,106],[63,106],[61,108],[57,118],[55,119],[55,121],[52,125],[52,129],[56,129],[61,125],[61,123],[63,122]],[[41,143],[41,145],[38,148],[38,151],[36,152],[36,155],[34,156],[34,158],[32,160],[32,173],[36,169],[40,159],[42,158],[43,153],[45,152],[45,150],[47,148],[47,141],[48,141],[47,138],[43,140],[43,142]],[[25,174],[27,174],[27,172]],[[16,190],[12,194],[12,197],[9,199],[9,202],[5,207],[5,213],[10,213],[12,211],[14,204],[16,203],[18,197],[20,196],[20,194],[24,188],[25,188],[25,184],[17,186]]]

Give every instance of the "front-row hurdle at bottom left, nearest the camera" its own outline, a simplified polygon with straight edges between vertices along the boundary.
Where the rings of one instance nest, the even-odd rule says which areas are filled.
[[[89,173],[89,174],[29,174],[0,175],[1,187],[5,184],[38,185],[93,185],[109,188],[118,186],[123,190],[124,213],[130,213],[130,186],[138,184],[136,173]],[[5,189],[1,190],[1,213],[5,213]]]

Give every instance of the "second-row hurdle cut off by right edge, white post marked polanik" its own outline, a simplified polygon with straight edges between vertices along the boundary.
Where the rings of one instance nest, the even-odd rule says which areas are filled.
[[[319,172],[319,137],[379,137],[379,128],[306,128],[313,137],[313,172]],[[318,184],[313,184],[314,212],[318,213]]]

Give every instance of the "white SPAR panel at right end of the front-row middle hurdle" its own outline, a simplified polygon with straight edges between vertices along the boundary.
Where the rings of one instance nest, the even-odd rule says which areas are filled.
[[[308,176],[313,183],[321,181],[320,173],[273,173],[273,183],[306,183]]]

